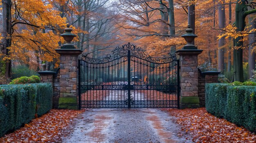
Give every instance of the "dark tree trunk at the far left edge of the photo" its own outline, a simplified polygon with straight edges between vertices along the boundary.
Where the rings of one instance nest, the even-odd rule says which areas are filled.
[[[8,47],[11,46],[11,0],[2,0],[2,53],[9,56]],[[9,35],[9,36],[8,36]],[[5,77],[11,78],[11,60],[7,59],[5,64]]]

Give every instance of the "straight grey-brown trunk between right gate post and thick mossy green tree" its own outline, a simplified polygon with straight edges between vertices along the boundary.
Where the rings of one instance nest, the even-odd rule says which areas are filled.
[[[223,3],[225,3],[225,0],[223,0]],[[225,28],[226,22],[225,22],[225,6],[222,5],[218,9],[219,13],[219,27],[220,29]],[[225,45],[225,37],[220,38],[219,40],[219,49],[218,49],[218,70],[220,70],[222,73],[224,71],[224,46]]]

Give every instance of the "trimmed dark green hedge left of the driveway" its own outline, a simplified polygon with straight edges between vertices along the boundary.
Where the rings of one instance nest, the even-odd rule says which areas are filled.
[[[51,84],[1,85],[0,136],[20,128],[51,108]]]

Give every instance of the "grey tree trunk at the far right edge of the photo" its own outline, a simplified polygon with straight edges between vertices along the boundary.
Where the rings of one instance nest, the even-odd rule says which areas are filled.
[[[249,8],[249,10],[251,10]],[[250,30],[255,29],[256,28],[256,20],[254,19],[255,15],[249,15],[249,25],[252,25],[250,27]],[[249,57],[248,57],[248,75],[249,75],[249,79],[252,78],[253,73],[252,70],[255,70],[255,52],[253,51],[253,48],[255,46],[255,33],[249,34]]]

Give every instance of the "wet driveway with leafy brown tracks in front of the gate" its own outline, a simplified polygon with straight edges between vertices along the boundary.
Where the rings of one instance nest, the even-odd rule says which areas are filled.
[[[89,109],[63,143],[191,143],[161,109]]]

